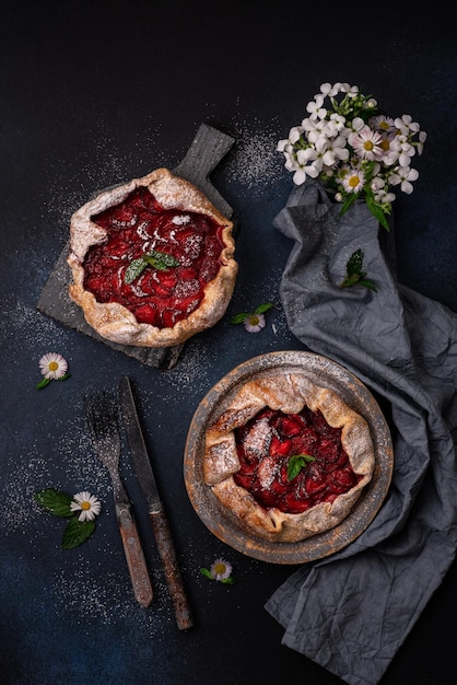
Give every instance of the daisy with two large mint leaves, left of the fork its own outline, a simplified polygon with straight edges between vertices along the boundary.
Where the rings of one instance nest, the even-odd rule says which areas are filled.
[[[81,498],[81,495],[89,497]],[[62,549],[79,547],[95,531],[95,521],[84,516],[91,515],[95,518],[99,512],[99,502],[89,492],[70,497],[55,488],[45,488],[39,492],[35,492],[34,499],[55,516],[69,519],[68,525],[63,531]],[[91,511],[90,514],[87,513],[89,511]],[[80,515],[78,515],[78,512],[81,512]],[[84,520],[80,520],[81,516]]]

